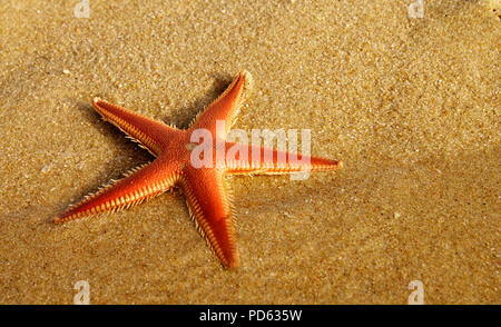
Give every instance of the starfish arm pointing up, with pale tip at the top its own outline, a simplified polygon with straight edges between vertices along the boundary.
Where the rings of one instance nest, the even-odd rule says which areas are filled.
[[[253,78],[243,69],[229,85],[229,87],[202,111],[190,126],[190,130],[206,128],[216,131],[216,122],[224,121],[225,130],[217,130],[216,136],[224,138],[236,121],[236,116],[244,101],[245,95],[250,91]]]

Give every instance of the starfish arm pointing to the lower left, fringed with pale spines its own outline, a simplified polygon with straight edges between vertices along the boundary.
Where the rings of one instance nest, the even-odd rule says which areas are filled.
[[[161,166],[159,160],[130,171],[125,178],[87,196],[53,218],[53,222],[66,222],[86,216],[129,208],[171,188],[179,178],[175,165]]]

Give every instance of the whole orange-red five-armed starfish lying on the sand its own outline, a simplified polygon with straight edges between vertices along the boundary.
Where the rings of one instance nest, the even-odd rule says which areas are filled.
[[[292,174],[342,167],[342,162],[336,160],[227,141],[226,136],[235,123],[252,81],[250,73],[242,70],[229,87],[198,113],[188,129],[177,129],[94,98],[94,108],[106,121],[127,133],[156,159],[87,196],[53,221],[66,222],[129,208],[180,187],[191,218],[220,264],[225,268],[237,267],[239,259],[234,215],[229,190],[224,185],[225,176]],[[216,156],[213,156],[214,152]]]

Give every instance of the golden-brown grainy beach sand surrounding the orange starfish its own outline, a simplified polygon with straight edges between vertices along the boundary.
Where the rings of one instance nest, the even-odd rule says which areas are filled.
[[[79,280],[91,304],[407,304],[414,280],[424,304],[500,304],[499,14],[459,0],[1,1],[0,304],[73,304]],[[237,269],[178,189],[51,222],[154,159],[92,97],[186,128],[243,68],[254,89],[235,128],[310,129],[312,155],[344,167],[227,178]]]

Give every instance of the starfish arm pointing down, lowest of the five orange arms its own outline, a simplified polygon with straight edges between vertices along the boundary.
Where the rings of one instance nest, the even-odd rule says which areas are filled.
[[[188,168],[180,179],[189,212],[225,268],[238,266],[229,195],[216,169]]]

